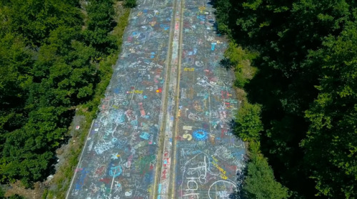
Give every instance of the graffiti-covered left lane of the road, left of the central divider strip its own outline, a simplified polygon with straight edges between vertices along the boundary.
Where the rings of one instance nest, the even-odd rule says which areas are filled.
[[[68,198],[150,198],[153,193],[173,10],[169,1],[138,4],[81,158],[86,169],[76,172]]]

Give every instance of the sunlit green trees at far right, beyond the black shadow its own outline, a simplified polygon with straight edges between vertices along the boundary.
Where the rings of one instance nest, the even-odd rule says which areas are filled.
[[[306,111],[311,125],[302,146],[307,150],[305,158],[311,162],[316,188],[329,197],[357,195],[356,22],[348,23],[340,36],[327,37],[323,47],[311,53],[324,58],[323,77],[318,97]]]

